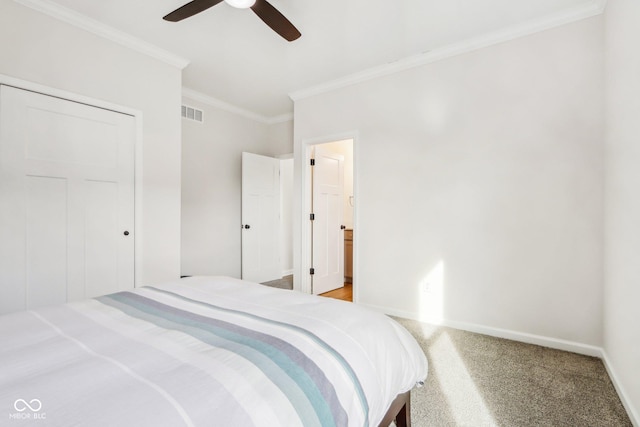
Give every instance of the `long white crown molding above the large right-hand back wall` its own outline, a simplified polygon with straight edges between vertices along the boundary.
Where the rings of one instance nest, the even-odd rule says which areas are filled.
[[[529,21],[500,31],[494,31],[478,37],[436,48],[418,55],[409,56],[389,64],[369,68],[316,86],[289,93],[293,101],[331,92],[352,86],[378,77],[388,76],[401,71],[410,70],[422,65],[431,64],[443,59],[473,52],[478,49],[508,42],[541,31],[560,27],[583,19],[600,15],[606,8],[607,0],[591,0],[590,2],[564,10],[543,19]]]

